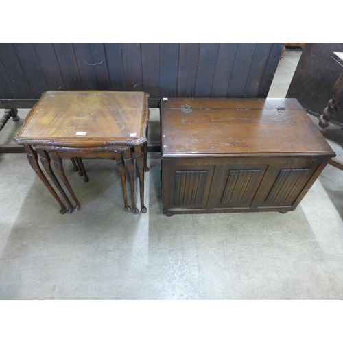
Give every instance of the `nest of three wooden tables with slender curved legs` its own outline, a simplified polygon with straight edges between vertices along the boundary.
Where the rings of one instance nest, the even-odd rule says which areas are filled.
[[[88,181],[82,158],[115,158],[123,187],[126,211],[131,211],[126,196],[126,179],[130,183],[133,213],[139,213],[134,199],[134,161],[139,176],[141,212],[144,206],[144,171],[147,157],[149,95],[145,92],[119,91],[47,91],[30,110],[23,128],[14,137],[25,147],[27,158],[36,174],[61,206],[60,213],[80,209],[62,167],[62,158],[72,158],[74,166]],[[134,152],[134,154],[132,154]],[[39,156],[39,158],[38,158]],[[40,168],[49,175],[60,191],[64,203]],[[51,160],[67,187],[75,208],[58,182]]]

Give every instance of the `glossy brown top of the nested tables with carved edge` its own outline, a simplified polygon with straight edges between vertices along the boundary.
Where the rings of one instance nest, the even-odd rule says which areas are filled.
[[[14,141],[23,145],[138,145],[147,141],[145,92],[47,91]]]

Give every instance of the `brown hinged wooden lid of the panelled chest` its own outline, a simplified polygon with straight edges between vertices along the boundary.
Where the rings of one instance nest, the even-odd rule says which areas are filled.
[[[163,99],[161,151],[163,157],[335,156],[296,99]]]

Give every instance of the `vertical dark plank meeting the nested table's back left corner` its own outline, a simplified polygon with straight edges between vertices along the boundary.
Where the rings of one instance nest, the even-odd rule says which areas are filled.
[[[52,43],[33,43],[49,90],[57,91],[64,87],[64,81]]]

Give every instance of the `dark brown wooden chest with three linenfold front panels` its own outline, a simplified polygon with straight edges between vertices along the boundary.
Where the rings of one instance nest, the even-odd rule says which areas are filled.
[[[165,215],[292,211],[333,156],[296,99],[161,102]]]

